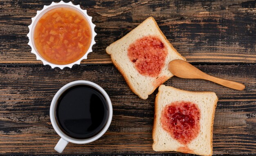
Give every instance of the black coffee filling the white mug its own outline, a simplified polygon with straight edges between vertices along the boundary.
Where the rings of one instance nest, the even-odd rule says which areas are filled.
[[[78,139],[91,138],[106,125],[108,104],[96,88],[78,85],[61,94],[55,114],[65,134]]]

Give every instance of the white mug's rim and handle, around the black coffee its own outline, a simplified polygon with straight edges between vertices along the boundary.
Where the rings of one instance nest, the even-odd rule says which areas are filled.
[[[70,136],[67,136],[64,132],[62,132],[60,127],[58,127],[58,124],[57,124],[57,121],[55,118],[55,113],[56,113],[55,109],[56,109],[56,104],[58,102],[58,98],[61,96],[61,94],[63,92],[65,92],[65,90],[67,90],[70,87],[77,86],[77,85],[87,85],[87,86],[92,86],[92,87],[96,88],[103,94],[103,96],[105,97],[106,102],[108,104],[107,123],[106,123],[105,127],[103,127],[101,132],[99,132],[97,135],[95,135],[91,138],[77,139],[77,138],[72,138]],[[55,94],[54,98],[52,99],[52,103],[51,103],[51,107],[50,107],[50,119],[51,119],[52,126],[53,126],[54,130],[57,132],[57,134],[59,136],[61,136],[61,139],[58,141],[58,143],[56,144],[54,149],[57,152],[61,153],[63,151],[63,149],[65,149],[65,147],[67,146],[67,143],[69,143],[69,142],[77,143],[77,144],[84,144],[84,143],[90,143],[92,141],[97,140],[108,130],[108,127],[110,126],[110,123],[112,120],[112,114],[113,114],[113,110],[112,110],[112,104],[111,104],[110,98],[109,98],[108,94],[106,93],[106,91],[103,90],[103,88],[101,88],[99,85],[97,85],[96,83],[93,83],[91,81],[83,81],[83,80],[67,83],[60,90],[58,90],[58,92]]]

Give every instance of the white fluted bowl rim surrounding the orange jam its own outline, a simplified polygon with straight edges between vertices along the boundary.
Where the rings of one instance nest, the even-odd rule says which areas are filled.
[[[91,30],[92,30],[92,42],[88,48],[88,51],[85,53],[85,55],[83,55],[83,57],[81,57],[79,60],[77,60],[76,62],[73,62],[71,64],[58,65],[58,64],[52,64],[52,63],[46,61],[43,57],[40,56],[40,54],[36,50],[36,46],[34,44],[34,29],[35,29],[36,23],[49,10],[52,10],[52,9],[55,9],[58,7],[72,8],[72,9],[75,9],[75,10],[79,11],[80,13],[82,13],[85,16],[85,18],[87,18],[87,20],[90,24]],[[32,49],[31,53],[34,53],[36,55],[36,59],[42,61],[44,65],[50,65],[52,68],[58,67],[61,69],[65,68],[65,67],[72,68],[72,66],[74,64],[80,64],[83,59],[87,59],[87,55],[92,52],[92,45],[94,45],[96,43],[94,41],[94,37],[97,35],[97,33],[95,33],[95,31],[94,31],[95,24],[92,23],[92,17],[87,15],[87,11],[81,9],[80,5],[74,5],[74,4],[72,4],[72,2],[65,3],[63,1],[58,2],[58,3],[52,2],[52,4],[50,4],[48,6],[45,5],[42,10],[37,11],[36,16],[31,19],[32,19],[32,23],[29,25],[29,33],[27,34],[27,37],[29,37],[28,45],[31,46],[31,49]]]

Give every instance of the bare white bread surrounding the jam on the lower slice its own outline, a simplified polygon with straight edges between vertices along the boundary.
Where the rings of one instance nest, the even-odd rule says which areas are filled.
[[[213,120],[218,97],[214,92],[191,92],[159,86],[155,98],[155,119],[153,125],[153,150],[176,151],[202,156],[212,155]],[[161,113],[166,105],[175,101],[190,101],[198,105],[200,110],[200,132],[190,143],[184,145],[166,132],[161,123]],[[187,147],[187,148],[184,148]]]

